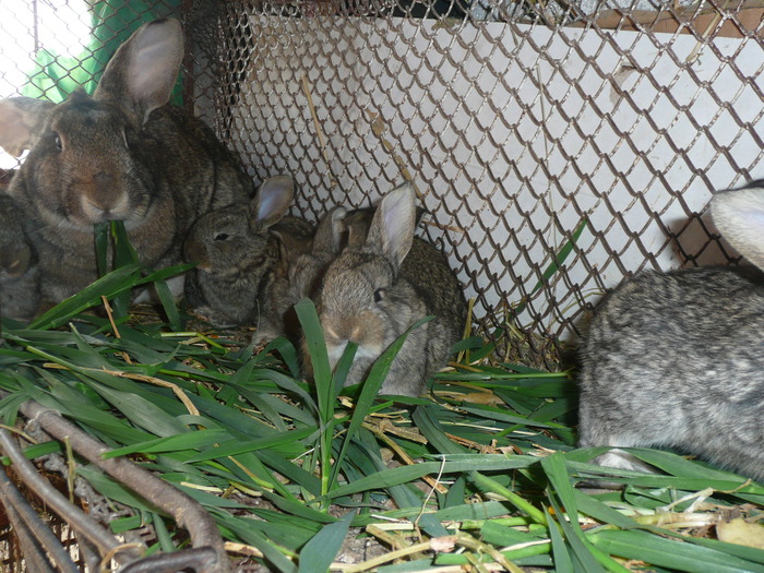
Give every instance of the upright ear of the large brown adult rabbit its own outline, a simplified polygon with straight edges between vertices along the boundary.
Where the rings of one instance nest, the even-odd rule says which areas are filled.
[[[168,17],[138,28],[109,60],[94,99],[117,102],[144,123],[169,102],[183,59],[183,31]]]

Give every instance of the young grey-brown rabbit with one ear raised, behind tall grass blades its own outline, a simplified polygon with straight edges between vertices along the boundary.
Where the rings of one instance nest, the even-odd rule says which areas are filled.
[[[362,382],[371,365],[411,324],[413,331],[382,385],[385,394],[418,396],[459,339],[466,302],[443,254],[414,237],[417,211],[410,183],[377,207],[367,239],[348,247],[324,275],[319,318],[334,368],[348,342],[358,345],[346,385]]]

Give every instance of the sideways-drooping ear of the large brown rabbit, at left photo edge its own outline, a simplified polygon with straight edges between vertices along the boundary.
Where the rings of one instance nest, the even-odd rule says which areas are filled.
[[[34,97],[0,100],[0,146],[14,157],[31,148],[53,107]]]

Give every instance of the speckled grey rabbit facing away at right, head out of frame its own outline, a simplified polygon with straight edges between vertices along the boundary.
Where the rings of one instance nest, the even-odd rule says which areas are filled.
[[[764,181],[717,192],[714,223],[764,268]],[[764,275],[645,272],[596,309],[581,350],[580,446],[676,447],[764,481]],[[600,465],[649,470],[620,450]]]

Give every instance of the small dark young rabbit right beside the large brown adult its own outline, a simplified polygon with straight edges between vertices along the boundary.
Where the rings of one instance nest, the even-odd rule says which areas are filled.
[[[186,299],[217,326],[254,324],[267,315],[270,284],[280,256],[310,249],[313,227],[285,217],[294,196],[289,176],[267,179],[251,204],[207,213],[193,225],[183,247],[199,263],[186,282]]]

